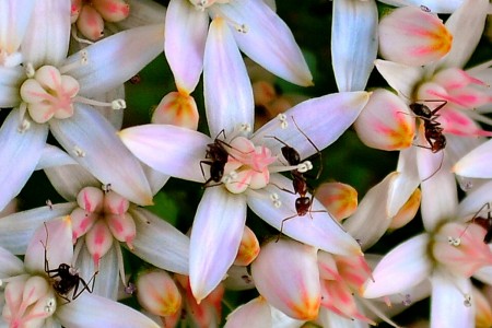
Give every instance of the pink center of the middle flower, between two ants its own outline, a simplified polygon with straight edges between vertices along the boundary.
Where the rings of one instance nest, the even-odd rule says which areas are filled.
[[[277,161],[270,149],[255,145],[245,137],[234,138],[227,147],[229,157],[222,183],[233,194],[265,188],[270,180],[268,166]]]

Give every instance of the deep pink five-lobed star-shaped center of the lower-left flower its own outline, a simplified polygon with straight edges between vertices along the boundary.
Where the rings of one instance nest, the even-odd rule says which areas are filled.
[[[130,202],[104,186],[85,187],[77,196],[79,208],[71,213],[73,241],[85,235],[85,245],[95,265],[112,247],[113,239],[133,248],[137,230],[128,213]]]

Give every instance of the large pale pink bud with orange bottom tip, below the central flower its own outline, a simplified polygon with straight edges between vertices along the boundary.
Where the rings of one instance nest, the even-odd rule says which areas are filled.
[[[271,241],[251,265],[258,292],[292,318],[312,320],[321,302],[316,248],[295,241]]]

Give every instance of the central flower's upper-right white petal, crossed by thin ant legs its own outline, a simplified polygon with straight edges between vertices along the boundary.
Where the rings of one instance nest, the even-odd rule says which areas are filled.
[[[305,101],[284,113],[289,122],[285,129],[282,129],[281,120],[273,118],[255,132],[251,141],[265,144],[273,154],[280,154],[284,144],[273,138],[265,138],[276,136],[294,148],[301,159],[306,159],[315,154],[316,150],[297,130],[292,118],[311,141],[324,150],[354,122],[368,98],[367,92],[341,92]]]

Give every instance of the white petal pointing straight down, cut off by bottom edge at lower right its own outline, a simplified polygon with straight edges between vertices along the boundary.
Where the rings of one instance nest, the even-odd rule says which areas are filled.
[[[436,272],[432,277],[431,325],[438,327],[473,327],[473,306],[466,306],[464,293],[471,296],[471,283]],[[471,300],[473,304],[473,300]]]

